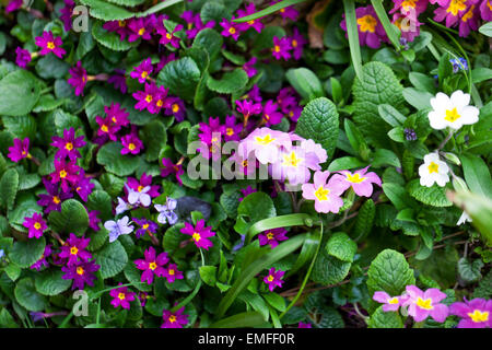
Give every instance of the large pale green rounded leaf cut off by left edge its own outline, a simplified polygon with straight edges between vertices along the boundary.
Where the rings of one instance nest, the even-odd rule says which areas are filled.
[[[31,72],[20,69],[0,80],[0,115],[26,115],[38,100],[39,84]]]

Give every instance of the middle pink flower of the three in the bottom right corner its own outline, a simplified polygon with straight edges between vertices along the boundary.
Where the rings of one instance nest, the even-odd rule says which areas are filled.
[[[446,294],[436,288],[421,291],[415,285],[407,285],[407,300],[402,306],[408,306],[408,314],[415,322],[422,322],[429,316],[434,320],[443,323],[448,314],[448,308],[441,301],[446,299]]]

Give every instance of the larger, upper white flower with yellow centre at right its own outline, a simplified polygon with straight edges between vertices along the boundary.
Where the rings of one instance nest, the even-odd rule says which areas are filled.
[[[450,127],[458,130],[464,125],[476,124],[480,110],[470,106],[470,95],[461,90],[455,91],[450,97],[440,92],[431,98],[433,110],[429,113],[431,127],[436,130]]]

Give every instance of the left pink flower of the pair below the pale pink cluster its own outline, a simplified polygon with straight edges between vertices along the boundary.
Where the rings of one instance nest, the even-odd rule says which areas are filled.
[[[343,206],[343,199],[340,197],[345,190],[341,182],[330,178],[327,183],[330,172],[316,172],[313,184],[304,184],[303,198],[315,201],[315,210],[323,213],[338,213]]]

